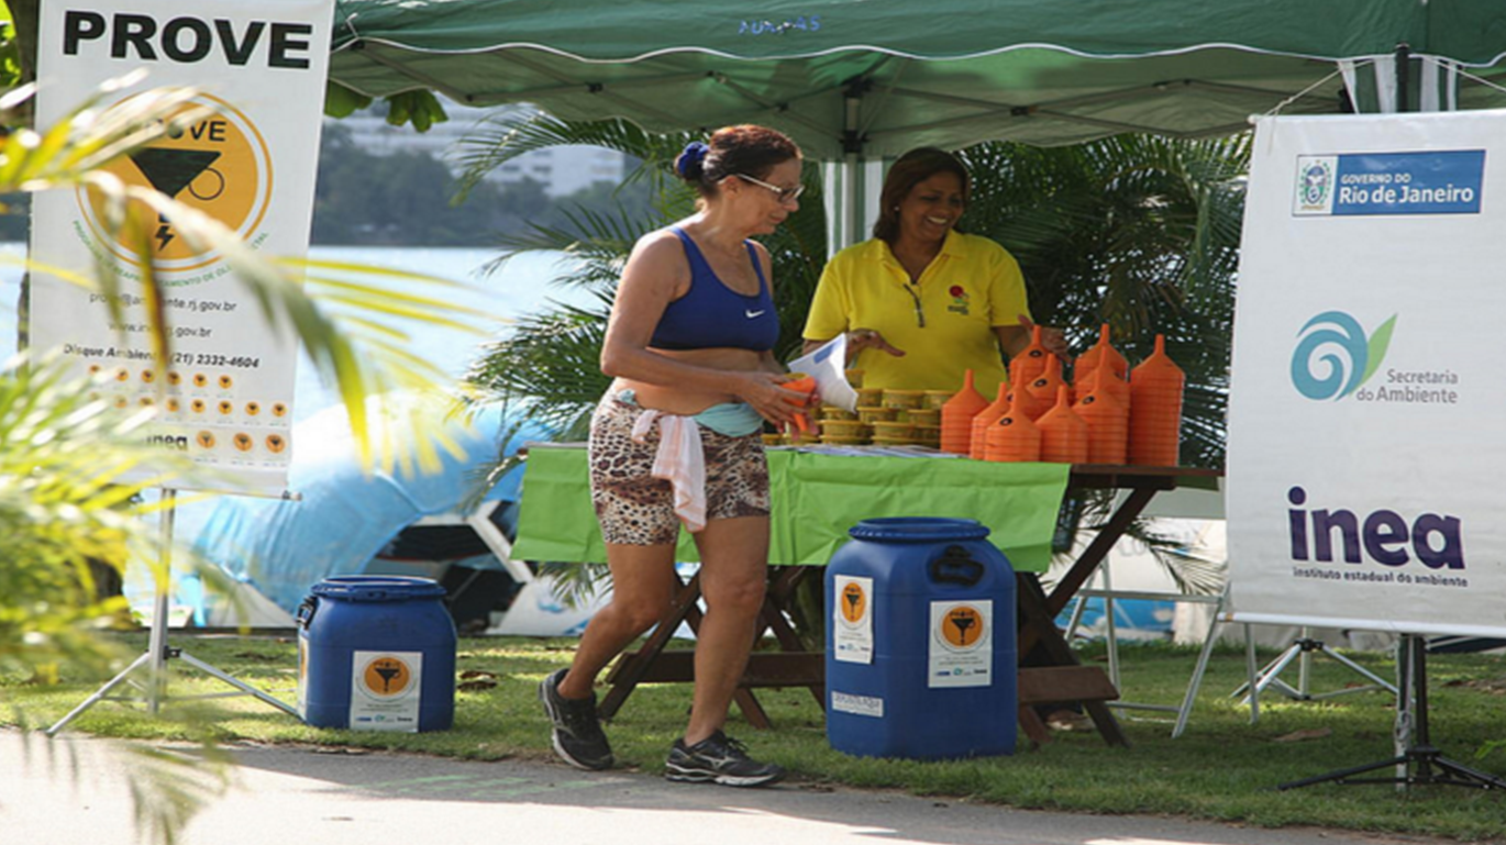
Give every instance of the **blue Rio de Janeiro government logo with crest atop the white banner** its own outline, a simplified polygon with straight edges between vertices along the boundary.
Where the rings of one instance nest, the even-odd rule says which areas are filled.
[[[1483,149],[1298,155],[1292,215],[1479,214]]]

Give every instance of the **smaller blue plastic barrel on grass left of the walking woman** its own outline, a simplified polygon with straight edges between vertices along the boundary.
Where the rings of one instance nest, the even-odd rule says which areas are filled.
[[[455,622],[431,578],[336,575],[298,607],[298,712],[316,728],[446,731]]]

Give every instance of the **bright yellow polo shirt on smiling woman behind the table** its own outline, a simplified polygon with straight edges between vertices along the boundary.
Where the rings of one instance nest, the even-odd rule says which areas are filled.
[[[920,313],[910,291],[920,300]],[[920,282],[910,285],[889,244],[873,238],[827,262],[804,337],[830,340],[875,328],[905,355],[858,352],[848,366],[863,371],[864,387],[956,390],[971,369],[979,393],[992,401],[1006,378],[994,327],[1018,325],[1020,315],[1030,316],[1020,262],[994,241],[949,232]]]

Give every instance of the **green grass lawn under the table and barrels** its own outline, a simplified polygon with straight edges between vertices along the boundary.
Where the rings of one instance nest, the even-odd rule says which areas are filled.
[[[120,637],[127,660],[145,649],[145,634]],[[173,636],[194,657],[286,700],[297,699],[297,642],[291,637]],[[101,737],[194,738],[208,729],[220,741],[361,746],[471,759],[550,758],[548,731],[535,687],[566,666],[574,640],[462,639],[461,688],[455,728],[434,734],[372,734],[309,728],[248,696],[178,700],[152,717],[143,708],[101,702],[69,729]],[[1181,702],[1196,660],[1194,649],[1166,645],[1123,646],[1126,700]],[[1274,652],[1262,652],[1262,663]],[[1390,654],[1349,654],[1383,678],[1393,676]],[[1102,658],[1101,646],[1083,651]],[[172,694],[218,693],[227,687],[184,663]],[[1358,685],[1339,663],[1315,657],[1310,691]],[[0,720],[45,726],[60,718],[105,678],[65,678],[62,685],[0,678]],[[753,753],[791,770],[807,786],[843,783],[898,788],[1017,807],[1090,813],[1169,813],[1244,824],[1325,825],[1363,831],[1447,836],[1461,840],[1506,837],[1506,794],[1459,786],[1398,792],[1390,785],[1318,785],[1279,792],[1276,785],[1336,768],[1387,759],[1393,753],[1393,699],[1361,691],[1322,702],[1262,697],[1261,721],[1229,694],[1245,679],[1244,651],[1215,652],[1191,723],[1172,740],[1173,714],[1120,711],[1133,747],[1113,749],[1092,728],[1056,731],[1053,741],[1008,758],[953,762],[857,759],[827,746],[822,712],[804,688],[765,690],[758,696],[774,720],[753,731],[733,708],[729,732]],[[1297,684],[1297,666],[1283,673]],[[1506,776],[1506,750],[1477,756],[1506,740],[1506,660],[1486,655],[1431,655],[1432,741],[1465,765]],[[607,726],[620,765],[658,773],[685,721],[687,685],[645,685]],[[1387,771],[1376,774],[1389,774]]]

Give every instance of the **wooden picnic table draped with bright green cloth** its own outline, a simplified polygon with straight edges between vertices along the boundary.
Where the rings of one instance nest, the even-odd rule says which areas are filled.
[[[812,458],[816,464],[815,468],[804,465]],[[583,529],[580,523],[584,517],[560,518],[560,508],[569,505],[571,500],[584,499],[589,512],[584,449],[580,444],[571,444],[563,449],[542,449],[535,446],[530,449],[527,461],[532,465],[524,474],[518,556],[524,559],[583,562],[604,559],[602,553],[587,550],[580,544]],[[569,461],[578,462],[578,468],[569,468],[566,465]],[[830,464],[833,461],[836,464]],[[861,461],[861,471],[854,471],[858,464],[842,464],[842,461]],[[539,464],[548,464],[548,467],[535,474],[535,467]],[[922,471],[923,468],[928,471]],[[1003,527],[1011,535],[1008,538],[989,538],[995,545],[1001,545],[1006,550],[1011,562],[1021,559],[1029,563],[1015,568],[1018,587],[1017,649],[1021,663],[1018,678],[1021,731],[1032,741],[1045,743],[1050,737],[1038,714],[1038,705],[1081,703],[1107,743],[1126,746],[1128,740],[1105,703],[1117,697],[1117,690],[1099,667],[1083,666],[1077,660],[1075,652],[1056,625],[1056,616],[1068,606],[1077,590],[1083,587],[1108,551],[1158,493],[1170,491],[1185,484],[1212,482],[1223,474],[1220,470],[1107,464],[1077,464],[1071,467],[1053,464],[986,464],[967,459],[929,461],[925,458],[899,456],[852,458],[807,455],[806,458],[786,458],[780,455],[780,450],[771,450],[770,474],[771,487],[776,491],[776,512],[771,518],[776,541],[771,544],[770,583],[758,636],[771,634],[779,649],[755,651],[748,658],[747,670],[735,694],[735,700],[748,721],[756,728],[770,726],[768,714],[755,696],[756,688],[806,687],[815,696],[816,702],[822,706],[825,705],[825,654],[807,649],[792,624],[794,601],[800,584],[806,578],[821,574],[818,566],[792,560],[792,557],[824,554],[824,547],[815,550],[797,548],[791,542],[782,541],[780,532],[815,533],[819,536],[822,529],[825,529],[827,533],[839,530],[845,535],[845,529],[858,521],[852,517],[837,517],[834,521],[812,520],[809,508],[798,515],[782,514],[777,508],[779,491],[782,488],[789,494],[791,485],[800,485],[806,477],[813,479],[810,484],[815,487],[821,487],[831,477],[843,477],[849,479],[843,484],[864,487],[876,484],[904,488],[907,493],[914,493],[917,485],[931,485],[946,497],[946,505],[941,505],[935,497],[926,500],[925,496],[873,496],[869,502],[861,503],[861,508],[864,508],[863,518],[944,515],[976,518],[983,524],[995,526],[1000,524],[1000,509],[1008,509],[1012,503],[1018,505],[1026,499],[1041,500],[1042,488],[1039,485],[1051,484],[1051,480],[1041,480],[1042,468],[1047,470],[1047,476],[1054,473],[1056,487],[1050,488],[1054,502],[1050,514],[1042,517],[1036,512],[1029,520],[1032,524],[1026,527],[1008,524]],[[542,482],[536,484],[541,479]],[[1029,488],[1029,491],[1021,493],[1021,485]],[[547,493],[535,497],[541,487],[548,488]],[[575,490],[566,490],[571,487]],[[1108,520],[1098,529],[1093,541],[1087,544],[1071,568],[1047,592],[1039,575],[1050,557],[1050,535],[1056,530],[1056,509],[1062,497],[1081,496],[1084,491],[1108,490],[1122,491],[1125,496],[1114,506]],[[821,500],[831,502],[831,491],[822,493]],[[794,494],[789,496],[797,499]],[[535,497],[532,503],[530,497]],[[541,499],[547,502],[541,502]],[[917,499],[926,502],[926,505],[919,505],[920,511],[916,511]],[[541,526],[538,521],[530,527],[530,505],[536,512],[548,511],[548,526],[557,527],[544,530],[548,526]],[[946,509],[937,511],[937,508]],[[783,524],[797,520],[798,530],[794,524]],[[568,526],[574,526],[574,530],[568,530]],[[997,533],[1000,529],[995,527],[994,530]],[[532,538],[530,532],[533,532]],[[539,536],[541,532],[551,536]],[[562,536],[566,533],[568,538]],[[586,533],[599,535],[599,532],[593,530],[587,530]],[[1042,538],[1045,542],[1044,557],[1041,548]],[[840,539],[828,541],[830,548],[834,551],[845,539],[842,536]],[[566,547],[562,542],[574,545]],[[682,551],[687,551],[685,547],[682,547]],[[539,556],[539,553],[544,554]],[[571,557],[560,557],[562,553]],[[690,554],[691,551],[687,551],[685,557],[690,557]],[[825,557],[830,557],[830,554],[825,554]],[[819,562],[824,563],[825,557],[821,557]],[[681,583],[676,586],[675,598],[654,631],[640,648],[625,652],[608,670],[605,676],[608,690],[598,708],[602,718],[611,718],[639,684],[690,682],[694,679],[694,651],[667,649],[666,646],[669,646],[670,639],[682,624],[688,625],[693,631],[699,628],[700,578],[699,574],[684,578],[676,577]]]

